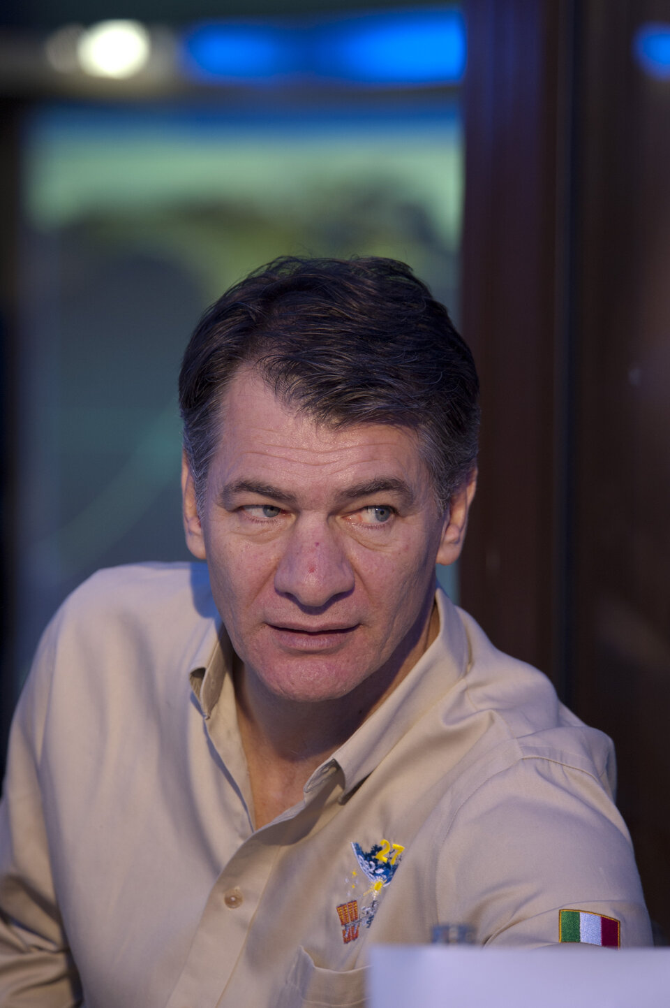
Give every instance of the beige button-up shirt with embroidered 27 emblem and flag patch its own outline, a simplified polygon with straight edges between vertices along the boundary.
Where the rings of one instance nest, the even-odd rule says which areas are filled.
[[[12,729],[0,1004],[351,1008],[372,942],[544,946],[566,908],[651,943],[610,741],[436,598],[437,640],[255,832],[207,569],[75,592]]]

